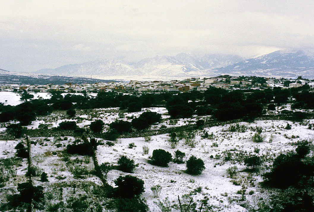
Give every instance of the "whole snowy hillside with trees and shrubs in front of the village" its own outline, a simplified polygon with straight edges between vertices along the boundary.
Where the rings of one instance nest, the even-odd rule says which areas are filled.
[[[1,106],[0,210],[313,211],[314,96],[298,89],[0,92],[24,97]]]

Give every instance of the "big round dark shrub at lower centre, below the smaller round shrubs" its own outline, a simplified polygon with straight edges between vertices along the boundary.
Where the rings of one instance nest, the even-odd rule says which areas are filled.
[[[115,190],[116,197],[133,198],[144,192],[144,181],[127,175],[118,177],[115,181],[117,186]]]

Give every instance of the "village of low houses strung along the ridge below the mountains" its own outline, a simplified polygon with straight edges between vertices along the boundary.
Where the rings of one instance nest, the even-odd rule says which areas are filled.
[[[137,91],[137,92],[187,92],[191,90],[205,91],[209,87],[222,88],[225,90],[237,89],[273,89],[280,87],[282,89],[297,88],[308,84],[314,86],[313,80],[302,79],[276,79],[263,77],[232,77],[223,75],[213,78],[192,77],[184,80],[169,80],[169,81],[121,81],[121,82],[98,82],[94,84],[72,84],[66,83],[63,85],[46,84],[46,85],[30,85],[30,84],[0,84],[0,91],[27,90],[32,92],[49,92],[50,90],[63,91],[66,93],[84,93],[98,92],[108,90],[119,91]]]

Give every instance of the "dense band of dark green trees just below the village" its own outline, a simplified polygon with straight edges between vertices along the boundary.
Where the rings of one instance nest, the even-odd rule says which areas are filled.
[[[265,90],[232,90],[210,87],[205,92],[193,90],[186,93],[160,93],[125,95],[115,91],[100,91],[97,96],[67,94],[51,91],[51,99],[30,99],[21,92],[24,103],[17,106],[0,104],[0,122],[17,120],[22,126],[30,124],[36,116],[45,116],[53,110],[94,109],[119,107],[128,112],[141,111],[152,106],[166,106],[171,118],[212,115],[218,121],[238,118],[254,119],[263,108],[282,105],[292,98],[293,108],[314,108],[314,94],[308,85],[299,88]],[[30,99],[30,100],[29,100]]]

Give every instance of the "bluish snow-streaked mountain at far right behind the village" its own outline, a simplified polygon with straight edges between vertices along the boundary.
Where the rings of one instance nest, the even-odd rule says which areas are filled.
[[[264,77],[314,78],[314,52],[311,50],[279,50],[260,57],[246,59],[224,68],[218,73],[255,75]]]

